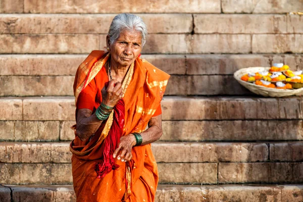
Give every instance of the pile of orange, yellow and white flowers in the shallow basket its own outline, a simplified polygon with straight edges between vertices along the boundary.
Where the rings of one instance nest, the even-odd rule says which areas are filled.
[[[241,80],[268,88],[294,89],[303,87],[302,71],[291,71],[283,63],[275,63],[268,71],[250,72]]]

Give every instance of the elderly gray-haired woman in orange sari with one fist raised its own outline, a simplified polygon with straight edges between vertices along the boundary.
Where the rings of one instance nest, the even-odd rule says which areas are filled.
[[[77,70],[70,145],[77,201],[155,199],[158,170],[150,143],[162,135],[160,102],[169,75],[140,59],[146,35],[140,17],[117,15],[107,52],[91,52]]]

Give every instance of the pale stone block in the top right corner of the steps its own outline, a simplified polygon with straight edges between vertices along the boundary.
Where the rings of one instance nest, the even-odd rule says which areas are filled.
[[[289,13],[303,10],[303,4],[297,0],[222,0],[223,13]]]

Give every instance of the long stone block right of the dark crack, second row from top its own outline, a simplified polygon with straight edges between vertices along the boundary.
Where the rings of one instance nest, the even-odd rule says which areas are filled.
[[[195,33],[286,33],[286,15],[195,14],[193,18]]]

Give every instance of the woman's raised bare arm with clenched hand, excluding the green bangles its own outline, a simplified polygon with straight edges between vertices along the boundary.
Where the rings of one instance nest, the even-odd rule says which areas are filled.
[[[109,83],[108,88],[102,89],[102,103],[109,107],[115,107],[119,100],[122,98],[122,85],[120,82],[115,83],[115,79],[112,79]],[[111,110],[102,108],[106,112],[111,112]],[[95,114],[89,109],[79,109],[77,113],[77,129],[76,135],[81,141],[85,141],[92,134],[94,134],[97,129],[102,124],[102,120],[99,120]]]

